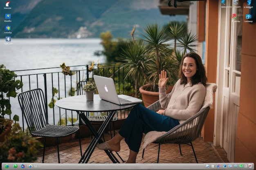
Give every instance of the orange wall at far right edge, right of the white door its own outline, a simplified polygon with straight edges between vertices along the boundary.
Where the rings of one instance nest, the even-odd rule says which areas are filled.
[[[243,10],[243,15],[249,9]],[[256,23],[243,23],[240,107],[235,162],[256,164]]]

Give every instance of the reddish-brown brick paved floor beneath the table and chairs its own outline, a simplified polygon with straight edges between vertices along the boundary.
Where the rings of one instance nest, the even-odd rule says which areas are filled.
[[[105,139],[110,140],[109,132],[104,135]],[[83,138],[82,150],[90,144],[91,138]],[[61,163],[78,163],[81,155],[79,148],[79,140],[72,138],[70,141],[60,144],[60,160]],[[204,142],[202,137],[198,137],[193,142],[193,147],[198,159],[198,163],[218,163],[229,162],[227,153],[223,148],[214,147],[211,142]],[[159,163],[196,163],[191,146],[182,145],[182,155],[180,155],[179,145],[177,144],[162,144],[160,147]],[[157,163],[157,144],[150,144],[146,147],[144,158],[142,158],[142,149],[137,155],[137,163]],[[45,163],[58,163],[58,155],[56,146],[46,148]],[[121,150],[118,152],[124,161],[128,159],[129,149],[124,140],[121,141]],[[40,149],[36,163],[41,163],[43,158],[43,148]],[[117,154],[114,152],[117,157]],[[121,162],[121,159],[119,159]],[[95,148],[88,163],[112,163],[103,150]]]

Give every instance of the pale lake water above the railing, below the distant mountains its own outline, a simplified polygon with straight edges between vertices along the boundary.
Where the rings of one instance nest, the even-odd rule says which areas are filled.
[[[5,42],[0,39],[0,42]],[[12,39],[10,46],[0,43],[0,64],[9,70],[86,65],[92,61],[106,63],[106,57],[94,56],[103,50],[97,39]]]

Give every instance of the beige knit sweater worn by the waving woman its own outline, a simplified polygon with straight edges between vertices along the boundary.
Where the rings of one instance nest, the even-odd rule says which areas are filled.
[[[159,88],[159,101],[164,108],[164,115],[179,120],[180,124],[189,119],[202,107],[205,97],[205,87],[201,83],[191,86],[190,83],[176,82],[170,95],[166,95],[164,87]]]

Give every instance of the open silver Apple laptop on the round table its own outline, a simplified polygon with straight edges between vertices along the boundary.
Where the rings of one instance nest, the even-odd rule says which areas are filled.
[[[99,93],[99,97],[103,100],[119,105],[142,102],[141,99],[137,99],[136,97],[131,97],[128,95],[117,95],[115,83],[112,78],[99,75],[93,75],[93,78]]]

